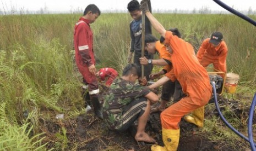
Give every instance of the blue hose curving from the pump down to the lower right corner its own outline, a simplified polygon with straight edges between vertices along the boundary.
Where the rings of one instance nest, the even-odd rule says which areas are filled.
[[[218,113],[220,114],[220,118],[224,121],[224,123],[227,125],[227,127],[229,127],[233,132],[235,132],[238,136],[242,137],[244,140],[246,140],[247,142],[250,142],[249,139],[242,135],[242,133],[238,132],[234,127],[232,127],[228,122],[227,120],[224,118],[224,116],[222,115],[221,111],[220,111],[220,108],[218,106],[218,101],[217,101],[217,93],[216,93],[216,87],[215,87],[215,83],[214,82],[211,82],[211,85],[213,85],[213,91],[214,91],[214,102],[215,102],[215,106],[216,106],[216,109],[218,111]],[[254,146],[256,146],[256,144],[254,142],[252,142],[252,144]]]

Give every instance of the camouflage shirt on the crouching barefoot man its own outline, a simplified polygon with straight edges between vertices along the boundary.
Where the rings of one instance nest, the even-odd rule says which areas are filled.
[[[103,104],[103,116],[108,126],[115,130],[122,127],[123,111],[127,104],[149,92],[147,86],[132,84],[122,78],[114,80]]]

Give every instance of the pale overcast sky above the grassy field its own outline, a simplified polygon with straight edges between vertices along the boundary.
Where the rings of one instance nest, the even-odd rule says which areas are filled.
[[[130,0],[0,0],[0,10],[40,10],[70,11],[82,9],[88,4],[96,4],[100,10],[127,10]],[[139,0],[140,2],[140,0]],[[230,7],[237,10],[256,10],[256,0],[222,0]],[[151,0],[153,10],[193,10],[207,7],[210,10],[224,11],[213,0]]]

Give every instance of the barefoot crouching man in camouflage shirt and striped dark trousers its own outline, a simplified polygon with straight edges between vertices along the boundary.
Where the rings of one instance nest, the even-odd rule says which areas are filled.
[[[149,118],[150,104],[159,97],[148,87],[135,84],[140,77],[140,68],[129,64],[123,69],[121,78],[114,80],[103,104],[103,117],[111,130],[126,131],[138,119],[135,140],[155,143],[154,138],[145,132]]]

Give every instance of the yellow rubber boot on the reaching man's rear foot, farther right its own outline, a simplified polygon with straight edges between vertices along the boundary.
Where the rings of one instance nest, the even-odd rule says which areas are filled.
[[[198,127],[204,126],[204,106],[195,109],[190,115],[184,117],[188,123],[193,123]]]

